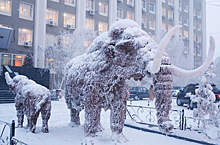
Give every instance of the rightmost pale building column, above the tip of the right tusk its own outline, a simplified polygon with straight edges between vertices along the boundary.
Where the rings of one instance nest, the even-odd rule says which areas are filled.
[[[206,47],[206,3],[205,0],[201,1],[201,18],[202,18],[202,62],[206,59],[207,47]],[[209,38],[207,38],[209,40]]]

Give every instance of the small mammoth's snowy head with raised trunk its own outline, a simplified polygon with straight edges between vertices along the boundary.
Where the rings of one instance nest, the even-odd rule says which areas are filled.
[[[18,93],[20,87],[23,86],[22,81],[28,80],[28,78],[23,75],[18,75],[12,79],[9,73],[5,72],[5,80],[6,80],[6,83],[9,85],[9,89],[14,93]]]

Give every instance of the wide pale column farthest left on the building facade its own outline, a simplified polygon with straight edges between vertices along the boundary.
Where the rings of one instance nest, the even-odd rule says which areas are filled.
[[[35,0],[34,67],[44,68],[47,1]],[[42,17],[43,16],[43,17]]]

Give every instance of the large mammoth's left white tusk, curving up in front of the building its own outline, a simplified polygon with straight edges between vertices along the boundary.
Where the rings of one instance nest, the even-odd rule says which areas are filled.
[[[171,37],[174,35],[176,31],[178,31],[180,28],[182,28],[181,25],[177,25],[173,27],[161,40],[153,61],[150,61],[147,65],[147,70],[151,73],[156,73],[160,70],[161,60],[163,57],[163,53],[165,51],[165,48],[167,47],[167,44],[169,43]]]

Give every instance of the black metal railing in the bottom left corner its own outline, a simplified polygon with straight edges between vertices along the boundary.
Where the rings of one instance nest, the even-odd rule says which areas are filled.
[[[2,127],[0,134],[1,145],[13,145],[12,137],[15,135],[15,121],[7,123],[0,120],[0,127]]]

